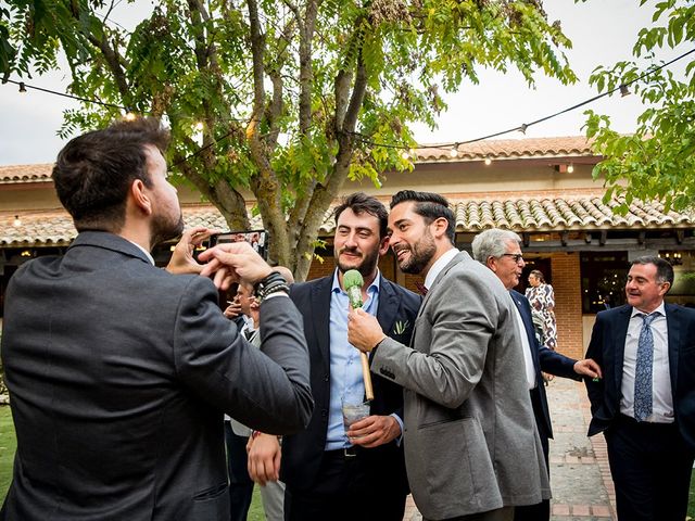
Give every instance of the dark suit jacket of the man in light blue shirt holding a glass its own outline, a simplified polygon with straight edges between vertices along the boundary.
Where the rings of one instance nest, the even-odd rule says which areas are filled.
[[[333,276],[293,284],[290,296],[304,316],[304,333],[311,359],[312,394],[315,408],[304,432],[282,440],[281,479],[290,488],[312,490],[326,446],[330,401],[330,298]],[[421,297],[381,277],[377,319],[384,333],[408,345]],[[401,334],[395,322],[407,322]],[[371,374],[375,398],[372,415],[399,414],[403,418],[403,389],[375,373]],[[403,449],[395,441],[376,448],[364,449],[361,457],[372,460],[374,468],[386,469],[393,485],[407,493],[407,478]],[[387,485],[384,483],[384,485]]]

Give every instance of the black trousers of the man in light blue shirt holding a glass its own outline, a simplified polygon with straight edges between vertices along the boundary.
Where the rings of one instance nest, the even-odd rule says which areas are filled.
[[[324,453],[316,485],[285,492],[286,521],[402,521],[405,492],[392,486],[388,469],[374,469],[361,448]],[[362,456],[361,456],[362,453]],[[351,455],[352,454],[352,455]]]

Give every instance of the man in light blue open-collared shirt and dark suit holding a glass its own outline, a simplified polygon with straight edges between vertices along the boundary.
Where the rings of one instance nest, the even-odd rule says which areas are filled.
[[[349,301],[343,274],[364,278],[367,313],[384,331],[407,344],[420,297],[380,274],[377,262],[389,249],[387,209],[375,198],[354,193],[334,211],[333,275],[294,284],[291,297],[304,316],[312,364],[314,415],[304,432],[285,436],[281,465],[274,436],[257,436],[249,454],[252,476],[287,484],[286,519],[401,521],[408,492],[400,445],[403,390],[374,376],[370,416],[345,434],[341,399],[364,396],[359,353],[348,343]]]

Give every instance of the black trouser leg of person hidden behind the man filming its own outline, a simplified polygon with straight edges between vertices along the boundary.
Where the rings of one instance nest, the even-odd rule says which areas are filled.
[[[235,434],[231,424],[225,421],[225,440],[229,469],[229,519],[230,521],[247,521],[253,497],[253,481],[249,476],[247,466],[247,442],[249,439]]]

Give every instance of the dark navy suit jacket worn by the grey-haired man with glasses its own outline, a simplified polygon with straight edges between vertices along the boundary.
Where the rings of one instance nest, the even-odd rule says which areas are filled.
[[[535,423],[541,436],[544,436],[545,439],[553,437],[553,424],[551,423],[551,412],[547,407],[545,383],[543,382],[543,374],[541,371],[555,374],[556,377],[581,380],[579,374],[574,372],[574,364],[577,360],[541,345],[533,329],[531,306],[528,298],[514,290],[509,290],[509,294],[521,315],[521,321],[523,322],[523,328],[526,329],[526,334],[529,339],[529,347],[531,348],[531,356],[533,358],[533,367],[535,369],[535,389],[531,390],[531,393],[535,394],[536,397],[536,399],[532,401]],[[547,444],[544,443],[544,446],[546,445]]]

